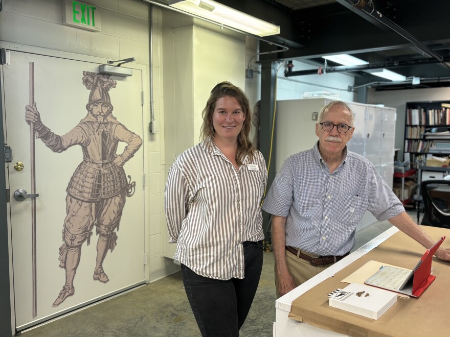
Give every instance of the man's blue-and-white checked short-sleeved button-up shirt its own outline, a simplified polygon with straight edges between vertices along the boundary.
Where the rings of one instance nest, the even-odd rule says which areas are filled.
[[[330,174],[319,142],[284,161],[262,209],[286,216],[286,246],[318,255],[344,255],[355,244],[355,229],[369,210],[378,221],[404,207],[392,189],[361,155],[347,151]]]

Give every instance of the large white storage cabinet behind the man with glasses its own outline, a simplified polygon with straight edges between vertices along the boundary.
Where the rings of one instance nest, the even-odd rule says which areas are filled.
[[[319,139],[316,136],[317,116],[329,98],[277,101],[275,122],[275,170],[291,154],[308,150]],[[349,151],[369,159],[376,171],[392,188],[394,173],[394,139],[396,109],[377,105],[346,102],[355,114],[353,137],[347,143]],[[316,117],[317,118],[317,117]],[[375,222],[366,212],[359,229]]]

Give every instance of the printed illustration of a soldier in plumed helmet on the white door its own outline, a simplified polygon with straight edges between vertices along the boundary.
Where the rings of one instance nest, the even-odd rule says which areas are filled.
[[[116,246],[116,229],[119,230],[125,198],[133,192],[122,166],[142,145],[141,138],[112,114],[113,105],[108,91],[116,87],[116,81],[107,75],[83,71],[83,84],[91,90],[86,105],[88,113],[63,136],[53,133],[41,122],[36,103],[26,106],[27,123],[34,123],[36,137],[48,148],[59,153],[79,145],[83,153],[83,161],[66,189],[64,243],[59,248],[59,266],[65,269],[65,284],[53,306],[75,293],[74,277],[80,262],[81,246],[86,240],[89,245],[94,225],[99,235],[94,280],[109,281],[103,270],[103,261],[108,249],[112,252]],[[116,154],[120,141],[127,145],[121,154]]]

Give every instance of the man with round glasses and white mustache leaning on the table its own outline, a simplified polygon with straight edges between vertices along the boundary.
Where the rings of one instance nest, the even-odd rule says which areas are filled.
[[[415,224],[366,158],[347,151],[354,115],[341,101],[319,113],[314,147],[288,157],[265,197],[272,216],[277,296],[346,256],[366,210],[389,220],[426,248],[434,241]],[[436,254],[450,260],[450,249]]]

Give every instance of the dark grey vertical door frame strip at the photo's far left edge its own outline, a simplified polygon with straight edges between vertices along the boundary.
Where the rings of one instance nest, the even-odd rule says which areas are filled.
[[[0,80],[0,92],[2,92],[2,81]],[[4,141],[3,132],[3,101],[0,94],[0,139]],[[8,247],[8,217],[6,215],[6,172],[5,172],[5,149],[0,147],[0,335],[12,335],[11,326],[11,289],[9,278],[9,247]],[[4,192],[5,191],[5,192]]]

